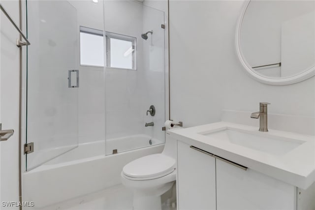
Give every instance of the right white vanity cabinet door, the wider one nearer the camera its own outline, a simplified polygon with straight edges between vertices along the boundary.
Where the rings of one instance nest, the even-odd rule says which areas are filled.
[[[294,210],[296,187],[216,160],[217,210]]]

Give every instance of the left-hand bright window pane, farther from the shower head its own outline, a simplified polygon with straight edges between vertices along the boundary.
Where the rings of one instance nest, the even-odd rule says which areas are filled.
[[[80,27],[80,64],[104,66],[103,31]]]

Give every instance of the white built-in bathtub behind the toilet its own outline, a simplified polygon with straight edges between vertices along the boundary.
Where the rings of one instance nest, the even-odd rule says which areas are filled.
[[[106,150],[105,141],[79,144],[23,173],[23,201],[33,201],[34,209],[40,209],[120,184],[120,173],[128,162],[160,153],[163,147],[162,141],[144,134],[109,139]],[[113,150],[118,153],[112,154]]]

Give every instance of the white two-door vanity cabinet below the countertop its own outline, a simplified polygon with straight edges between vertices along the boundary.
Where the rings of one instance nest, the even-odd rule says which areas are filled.
[[[302,209],[301,196],[310,193],[293,185],[183,142],[177,146],[178,210],[314,210],[315,199]]]

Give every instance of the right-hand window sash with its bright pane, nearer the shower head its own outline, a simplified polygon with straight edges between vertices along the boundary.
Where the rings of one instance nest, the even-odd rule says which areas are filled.
[[[136,38],[105,32],[106,66],[136,70]]]

